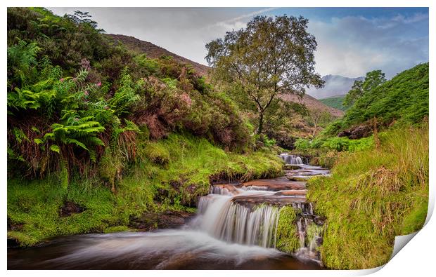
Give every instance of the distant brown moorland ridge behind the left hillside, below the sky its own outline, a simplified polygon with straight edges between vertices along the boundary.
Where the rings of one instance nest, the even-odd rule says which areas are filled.
[[[198,72],[200,76],[206,76],[207,72],[210,69],[210,67],[207,67],[206,65],[201,65],[198,62],[193,62],[192,60],[188,60],[187,58],[169,52],[169,50],[165,48],[157,46],[148,41],[141,41],[133,36],[124,36],[122,34],[105,34],[105,36],[108,36],[115,41],[120,41],[122,44],[124,44],[124,46],[131,50],[139,53],[146,53],[148,58],[160,58],[162,55],[172,56],[177,62],[192,65],[195,69],[195,72]]]

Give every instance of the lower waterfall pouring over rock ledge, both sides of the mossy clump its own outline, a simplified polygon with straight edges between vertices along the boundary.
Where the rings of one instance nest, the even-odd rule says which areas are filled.
[[[304,196],[283,196],[284,192],[286,190],[270,191],[268,187],[255,185],[238,188],[232,185],[213,186],[211,194],[200,198],[198,215],[191,222],[191,227],[228,243],[276,248],[280,211],[283,205],[290,205],[297,211],[295,224],[300,250],[296,254],[318,260],[316,248],[321,241],[321,227],[314,223],[313,205],[299,201]],[[264,203],[250,201],[259,198]],[[271,198],[278,198],[279,201],[270,204],[268,201]]]

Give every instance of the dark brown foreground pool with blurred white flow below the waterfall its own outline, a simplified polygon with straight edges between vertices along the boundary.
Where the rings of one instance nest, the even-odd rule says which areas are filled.
[[[192,229],[87,234],[8,248],[8,269],[321,269],[274,248],[226,243]]]

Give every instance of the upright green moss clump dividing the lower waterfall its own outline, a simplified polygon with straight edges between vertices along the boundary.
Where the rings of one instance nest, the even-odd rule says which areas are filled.
[[[281,208],[276,235],[276,248],[278,250],[294,253],[300,248],[296,219],[297,211],[293,207],[285,206]]]

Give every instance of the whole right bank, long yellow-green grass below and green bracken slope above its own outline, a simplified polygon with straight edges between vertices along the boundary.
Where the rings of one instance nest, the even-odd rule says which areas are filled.
[[[389,81],[355,83],[345,116],[295,151],[331,168],[309,180],[307,199],[326,217],[321,259],[331,269],[385,264],[395,236],[421,229],[428,208],[428,63]]]

